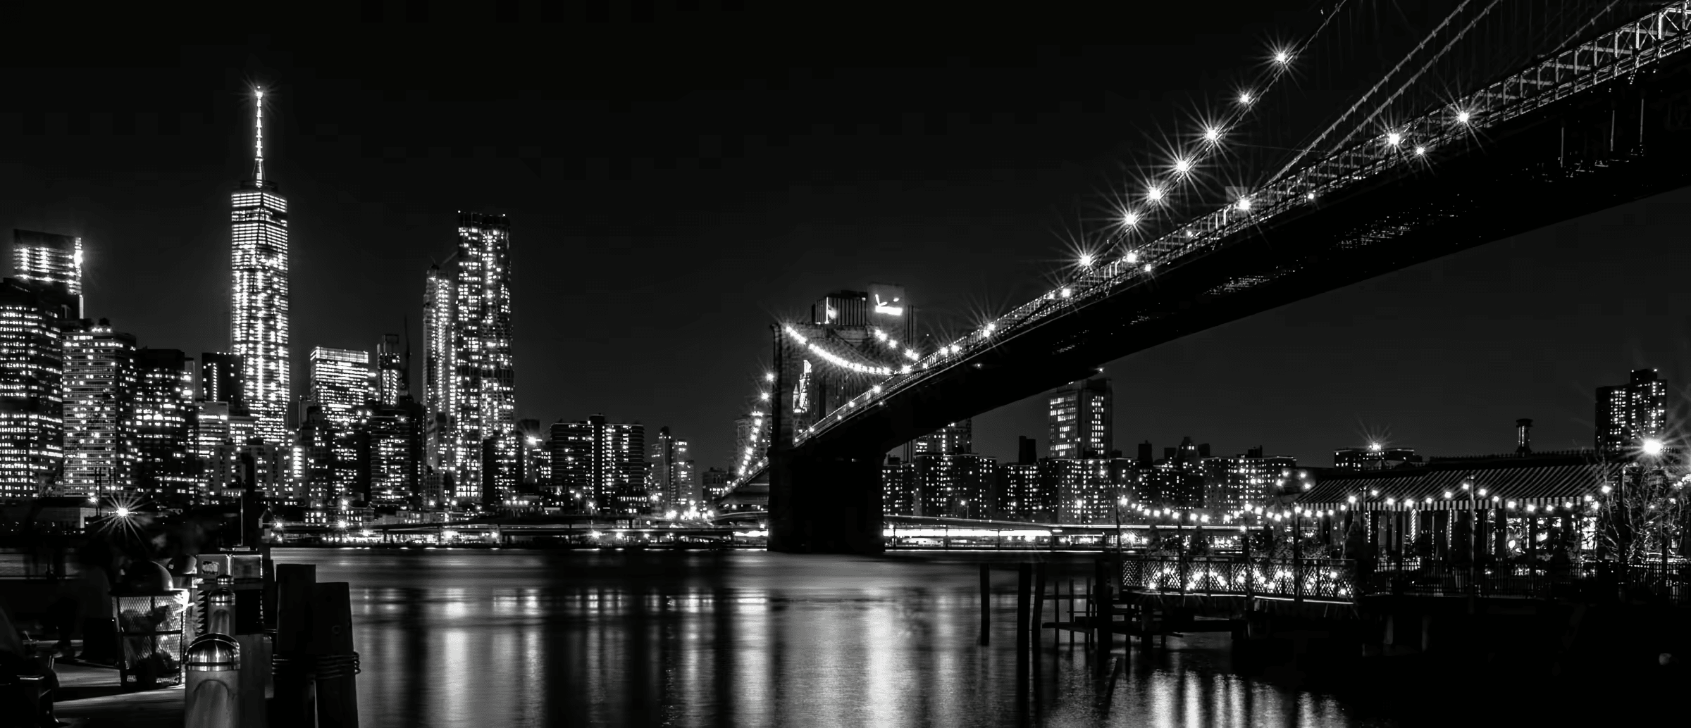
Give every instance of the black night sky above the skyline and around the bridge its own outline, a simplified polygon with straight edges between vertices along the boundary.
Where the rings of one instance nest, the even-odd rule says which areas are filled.
[[[519,414],[670,426],[725,468],[769,323],[871,280],[906,285],[940,331],[1026,301],[1072,262],[1101,194],[1316,17],[1304,2],[1118,5],[974,8],[988,15],[964,24],[364,3],[257,34],[189,32],[189,17],[157,34],[17,32],[0,59],[0,233],[83,236],[90,316],[154,348],[227,350],[228,193],[250,176],[247,93],[262,83],[267,176],[289,201],[296,392],[311,346],[374,350],[409,318],[421,351],[423,272],[451,253],[455,211],[507,213]],[[1427,17],[1378,5],[1398,14],[1373,29],[1387,35]],[[1346,73],[1378,61],[1300,81],[1339,98],[1358,90]],[[1192,436],[1329,465],[1371,432],[1475,454],[1512,449],[1517,417],[1537,421],[1541,448],[1590,446],[1595,387],[1635,367],[1661,368],[1676,402],[1691,385],[1688,201],[1111,361],[1116,446]],[[1018,434],[1043,443],[1042,400],[976,419],[986,454],[1013,458]]]

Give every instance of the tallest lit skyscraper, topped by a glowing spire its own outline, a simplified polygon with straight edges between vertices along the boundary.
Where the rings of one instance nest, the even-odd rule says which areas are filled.
[[[264,91],[254,90],[252,179],[230,198],[230,345],[242,363],[242,395],[259,437],[286,444],[287,199],[264,179]]]

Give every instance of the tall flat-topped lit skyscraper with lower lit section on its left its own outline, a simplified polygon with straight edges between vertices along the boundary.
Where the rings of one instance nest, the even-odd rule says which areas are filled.
[[[511,225],[504,215],[458,213],[458,250],[428,272],[423,331],[431,461],[453,481],[446,497],[480,502],[514,488],[516,367]],[[494,448],[484,456],[484,448]],[[492,471],[487,465],[494,463]]]

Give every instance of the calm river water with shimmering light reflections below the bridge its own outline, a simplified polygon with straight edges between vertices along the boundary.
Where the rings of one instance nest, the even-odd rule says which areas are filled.
[[[1021,556],[1035,557],[1062,571],[1064,588],[1091,569],[1087,554]],[[991,647],[977,645],[982,559],[999,566]],[[372,728],[1390,726],[1468,723],[1476,711],[1503,718],[1510,703],[1561,699],[1498,696],[1437,676],[1338,693],[1294,687],[1234,671],[1221,633],[1135,649],[1106,703],[1084,650],[1067,637],[1053,650],[1050,630],[1038,676],[1018,694],[1016,559],[276,552],[277,562],[316,564],[318,581],[352,584],[360,725]]]

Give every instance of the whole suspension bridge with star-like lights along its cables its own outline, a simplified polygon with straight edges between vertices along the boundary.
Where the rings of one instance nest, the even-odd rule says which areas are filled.
[[[768,488],[769,549],[878,552],[881,461],[903,443],[1206,328],[1684,186],[1691,7],[1564,5],[1458,3],[1277,171],[1218,193],[1238,181],[1229,140],[1324,62],[1327,22],[1272,49],[1055,285],[950,341],[918,351],[896,291],[857,321],[773,323],[724,500]]]

